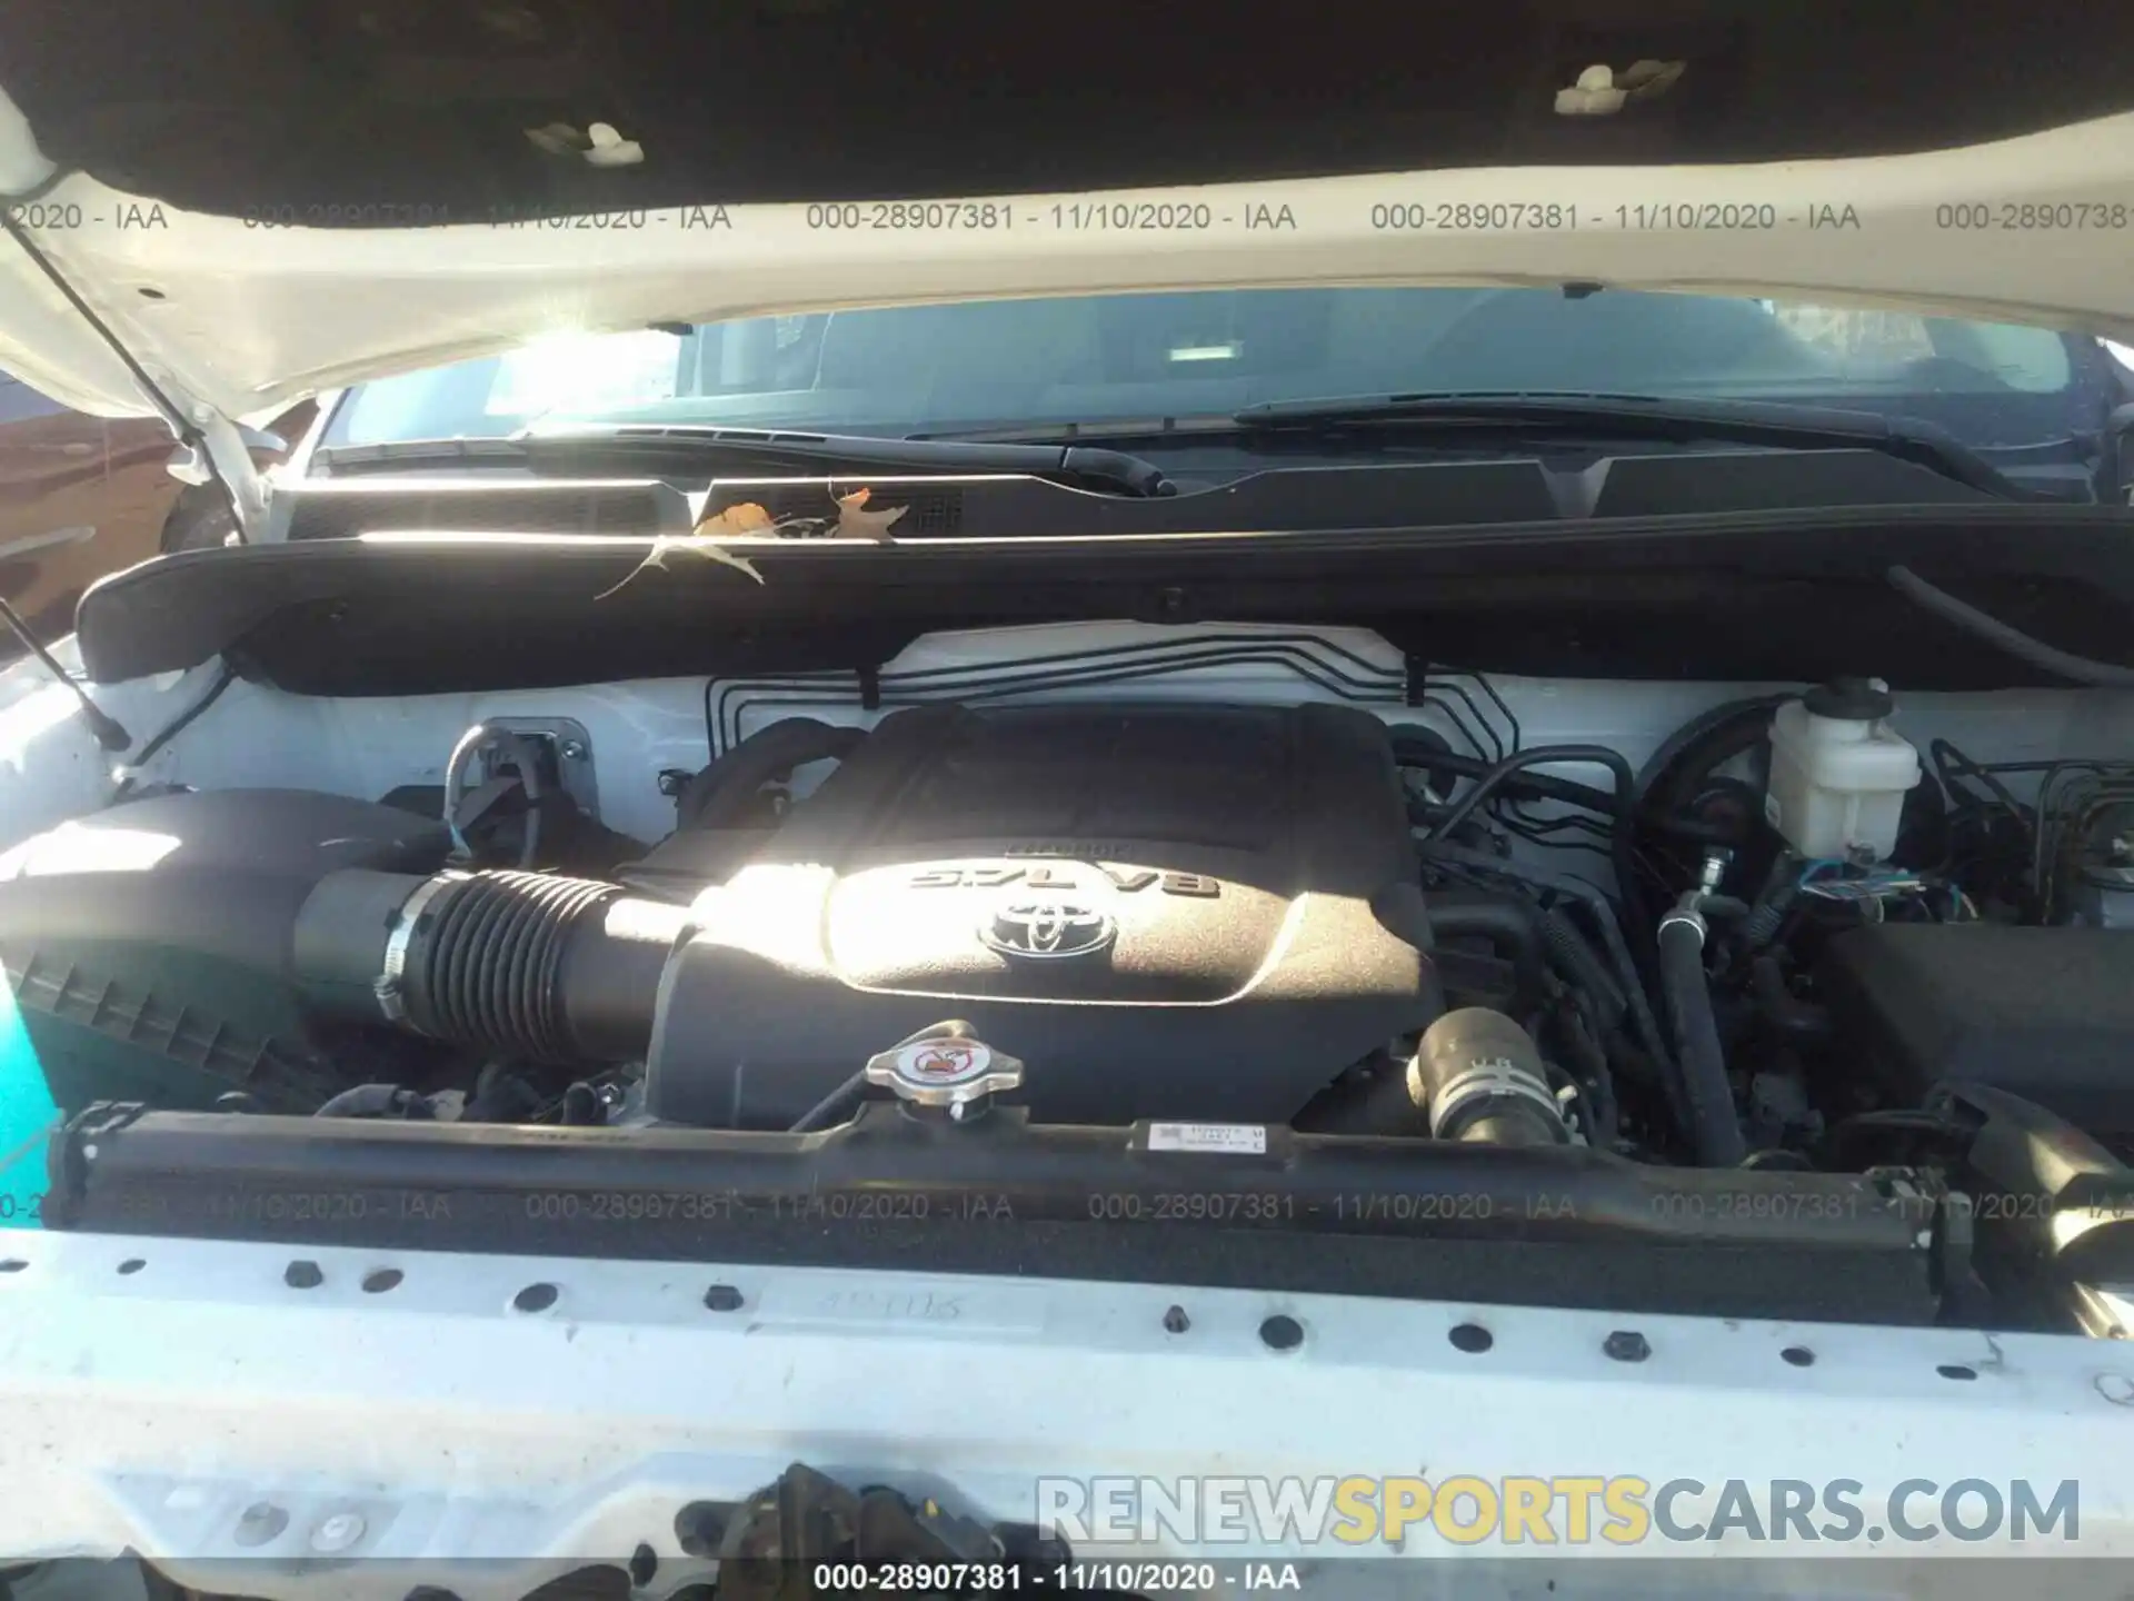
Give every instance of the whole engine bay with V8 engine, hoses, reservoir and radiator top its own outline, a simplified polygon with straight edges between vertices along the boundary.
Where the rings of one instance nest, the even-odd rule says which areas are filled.
[[[224,1223],[329,1174],[480,1191],[563,1140],[587,1193],[704,1193],[708,1161],[773,1212],[1189,1195],[1201,1227],[1705,1245],[1833,1285],[1886,1253],[1921,1315],[2123,1328],[2134,760],[1921,749],[1846,681],[1633,764],[1522,741],[1481,675],[1180,698],[1176,655],[873,707],[708,685],[657,841],[610,826],[623,777],[572,719],[476,722],[440,786],[371,800],[137,777],[0,858],[68,1114],[49,1225],[169,1210],[188,1172]]]

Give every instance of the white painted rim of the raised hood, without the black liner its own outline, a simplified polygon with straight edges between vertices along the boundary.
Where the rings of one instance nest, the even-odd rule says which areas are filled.
[[[0,96],[0,369],[152,414],[60,275],[179,406],[627,329],[907,301],[1289,284],[1756,295],[2134,339],[2134,113],[1965,149],[1729,167],[1468,167],[849,205],[386,226],[186,211],[58,175]],[[988,209],[990,207],[990,209]],[[49,273],[32,258],[32,245]]]

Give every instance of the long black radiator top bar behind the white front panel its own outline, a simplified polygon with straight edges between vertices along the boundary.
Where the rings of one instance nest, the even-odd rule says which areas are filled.
[[[85,1146],[96,1146],[94,1161]],[[1840,1174],[1641,1168],[1268,1131],[1265,1157],[1135,1129],[450,1129],[94,1106],[55,1138],[75,1232],[1440,1296],[1925,1323],[1946,1202]],[[1197,1198],[1197,1200],[1195,1200]]]

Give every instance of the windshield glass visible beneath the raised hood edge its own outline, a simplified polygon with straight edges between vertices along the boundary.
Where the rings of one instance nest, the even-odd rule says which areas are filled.
[[[1541,288],[1103,295],[557,337],[354,391],[324,444],[544,421],[905,435],[1223,414],[1361,393],[1607,391],[1837,403],[1972,444],[2074,427],[2070,342],[2027,327]]]

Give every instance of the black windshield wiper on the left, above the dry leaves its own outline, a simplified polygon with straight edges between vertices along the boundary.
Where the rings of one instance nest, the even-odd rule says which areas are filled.
[[[698,467],[706,457],[758,463],[890,467],[898,472],[1014,472],[1112,495],[1172,495],[1176,485],[1154,461],[1080,444],[994,444],[977,440],[894,440],[871,433],[732,429],[696,423],[600,423],[534,427],[514,442],[531,461],[587,453],[600,461]]]

